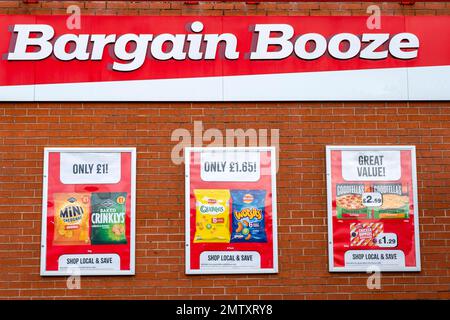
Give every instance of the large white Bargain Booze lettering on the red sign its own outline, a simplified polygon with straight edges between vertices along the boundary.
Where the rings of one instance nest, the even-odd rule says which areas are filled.
[[[43,60],[54,57],[61,61],[102,60],[107,46],[113,46],[115,71],[139,69],[148,55],[156,60],[214,60],[219,46],[221,56],[228,60],[240,57],[238,39],[232,33],[201,34],[204,25],[195,21],[189,25],[189,34],[62,34],[46,24],[16,24],[12,50],[7,60]],[[274,35],[276,33],[276,35]],[[254,26],[254,51],[250,60],[281,60],[295,54],[303,60],[314,60],[325,53],[339,60],[359,57],[368,60],[386,59],[389,54],[396,59],[413,59],[418,55],[419,39],[412,33],[338,33],[326,37],[319,33],[298,36],[289,24],[256,24]],[[39,34],[33,36],[32,34]],[[308,44],[314,44],[310,46]],[[29,47],[37,50],[30,51]],[[70,51],[67,51],[67,48]],[[273,48],[278,50],[273,50]],[[311,49],[312,48],[312,49]]]

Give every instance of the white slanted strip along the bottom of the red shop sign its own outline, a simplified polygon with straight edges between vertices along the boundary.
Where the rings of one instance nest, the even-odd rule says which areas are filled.
[[[0,101],[450,100],[450,66],[0,86]]]

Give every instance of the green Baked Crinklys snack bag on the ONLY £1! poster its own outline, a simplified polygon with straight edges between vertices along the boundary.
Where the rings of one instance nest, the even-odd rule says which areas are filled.
[[[125,228],[126,192],[92,193],[91,243],[127,243]]]

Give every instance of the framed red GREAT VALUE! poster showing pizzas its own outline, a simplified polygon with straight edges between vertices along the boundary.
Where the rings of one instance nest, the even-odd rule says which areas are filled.
[[[420,271],[413,146],[327,146],[331,271]]]

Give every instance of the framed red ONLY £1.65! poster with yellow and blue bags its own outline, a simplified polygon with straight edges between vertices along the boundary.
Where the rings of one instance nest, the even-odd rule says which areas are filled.
[[[277,273],[275,147],[186,148],[186,274]]]

